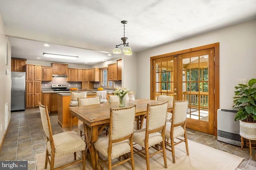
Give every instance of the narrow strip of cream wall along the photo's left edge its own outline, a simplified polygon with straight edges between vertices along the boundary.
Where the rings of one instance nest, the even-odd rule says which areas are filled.
[[[6,39],[8,42],[8,66],[5,64]],[[0,14],[0,139],[2,140],[5,130],[5,104],[8,103],[8,122],[10,121],[11,108],[11,45],[4,34],[4,23]],[[9,74],[6,75],[6,69]],[[1,130],[2,127],[2,130]],[[1,141],[2,142],[2,141]]]

